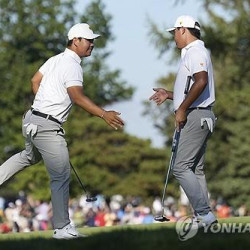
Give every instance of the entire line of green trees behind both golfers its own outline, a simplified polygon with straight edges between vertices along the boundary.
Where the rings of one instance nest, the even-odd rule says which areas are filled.
[[[202,39],[212,54],[218,117],[207,149],[208,186],[215,198],[222,196],[233,206],[244,203],[250,208],[250,0],[203,3],[209,18],[202,23]],[[30,78],[45,60],[64,50],[67,31],[74,23],[87,22],[102,35],[92,57],[83,60],[86,95],[102,106],[129,100],[133,95],[133,87],[121,78],[120,70],[111,70],[106,63],[111,54],[107,45],[114,37],[112,16],[104,3],[93,0],[81,12],[84,14],[79,14],[75,6],[74,0],[0,0],[0,163],[23,149],[21,117],[33,100]],[[217,6],[224,9],[223,14],[216,14]],[[149,33],[162,60],[169,51],[177,58],[173,39],[153,20],[150,23]],[[171,89],[174,76],[174,72],[159,76],[157,84]],[[152,114],[151,108],[146,103],[145,114]],[[125,131],[113,131],[101,119],[73,108],[64,129],[72,164],[91,192],[140,196],[148,203],[161,195],[174,122],[170,103],[158,112],[152,119],[162,118],[155,124],[166,138],[162,149]],[[10,196],[19,190],[49,199],[43,162],[16,175],[0,188],[0,194]],[[72,196],[82,192],[74,175],[70,192]],[[179,194],[173,179],[168,194]]]

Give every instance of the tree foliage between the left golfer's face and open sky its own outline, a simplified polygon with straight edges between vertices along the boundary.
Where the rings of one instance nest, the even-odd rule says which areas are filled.
[[[111,33],[111,16],[104,10],[105,5],[100,0],[93,1],[81,18],[81,21],[90,23],[91,28],[101,35],[95,42],[93,55],[86,59],[91,63],[84,65],[85,92],[98,105],[129,99],[134,90],[119,79],[120,70],[111,71],[105,63],[110,55],[105,48],[114,38]]]

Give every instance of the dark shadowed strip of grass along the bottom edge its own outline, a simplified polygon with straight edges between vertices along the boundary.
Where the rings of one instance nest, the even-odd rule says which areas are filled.
[[[174,228],[118,229],[87,238],[55,240],[44,238],[1,240],[1,250],[165,250],[249,249],[250,233],[204,233],[180,241]]]

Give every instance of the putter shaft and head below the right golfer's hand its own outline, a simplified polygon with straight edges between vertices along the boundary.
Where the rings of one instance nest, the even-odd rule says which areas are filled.
[[[175,130],[174,136],[173,136],[173,142],[172,142],[172,153],[171,153],[170,163],[169,163],[169,166],[168,166],[168,172],[167,172],[166,181],[165,181],[163,194],[162,194],[162,199],[161,199],[162,214],[158,215],[158,216],[155,216],[154,217],[155,221],[159,221],[159,222],[169,221],[169,219],[166,216],[164,216],[164,200],[165,200],[165,194],[166,194],[167,185],[168,185],[169,174],[170,174],[170,172],[171,172],[171,170],[172,170],[172,168],[174,166],[174,162],[175,162],[175,158],[176,158],[179,138],[180,138],[180,131]]]

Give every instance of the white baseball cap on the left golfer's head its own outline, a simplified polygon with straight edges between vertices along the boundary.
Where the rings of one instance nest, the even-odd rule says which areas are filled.
[[[93,31],[89,28],[87,23],[77,23],[72,26],[68,32],[68,39],[72,40],[73,38],[86,38],[86,39],[95,39],[100,35],[94,34]]]

